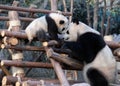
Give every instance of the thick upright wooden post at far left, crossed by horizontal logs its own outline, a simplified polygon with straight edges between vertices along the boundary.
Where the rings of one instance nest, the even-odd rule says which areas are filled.
[[[19,4],[18,1],[13,1],[13,6],[17,7]],[[9,11],[9,28],[8,31],[20,31],[20,26],[21,22],[19,20],[19,16],[17,11]],[[20,41],[18,45],[20,44]],[[9,50],[12,55],[12,60],[19,60],[21,61],[23,59],[23,53],[21,51],[16,51],[16,50]],[[24,70],[20,67],[12,67],[12,74],[13,76],[19,76],[23,77],[24,76]]]

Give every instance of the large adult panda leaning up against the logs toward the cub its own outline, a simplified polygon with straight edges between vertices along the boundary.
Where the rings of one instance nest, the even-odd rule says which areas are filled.
[[[83,76],[91,86],[109,86],[114,82],[116,60],[100,33],[82,22],[69,24],[63,35],[72,58],[83,62]]]

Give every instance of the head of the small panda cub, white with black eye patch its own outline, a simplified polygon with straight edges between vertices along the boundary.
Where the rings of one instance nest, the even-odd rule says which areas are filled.
[[[64,33],[65,29],[68,27],[68,19],[60,13],[50,13],[49,16],[55,21],[58,32]]]

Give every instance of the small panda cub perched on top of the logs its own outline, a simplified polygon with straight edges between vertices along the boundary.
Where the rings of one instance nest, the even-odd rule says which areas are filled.
[[[33,20],[25,29],[28,36],[29,42],[37,37],[39,40],[46,39],[46,33],[53,40],[58,40],[58,33],[63,32],[63,30],[68,25],[68,19],[59,13],[50,13],[48,15],[42,16]]]

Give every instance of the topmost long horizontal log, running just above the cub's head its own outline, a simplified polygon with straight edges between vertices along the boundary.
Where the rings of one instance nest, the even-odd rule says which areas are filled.
[[[43,10],[43,9],[30,9],[30,8],[13,7],[13,6],[5,6],[5,5],[0,5],[0,9],[23,11],[23,12],[35,12],[35,13],[51,13],[51,12],[57,13],[57,11],[50,11],[50,10]],[[66,16],[71,16],[71,13],[69,12],[62,12],[62,14]]]

